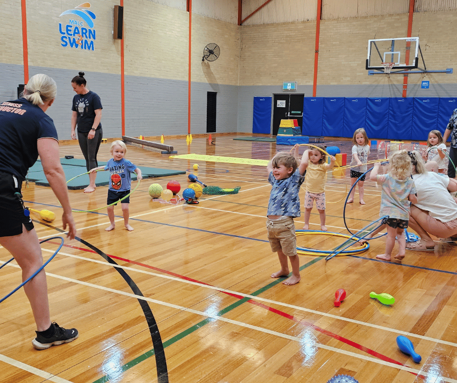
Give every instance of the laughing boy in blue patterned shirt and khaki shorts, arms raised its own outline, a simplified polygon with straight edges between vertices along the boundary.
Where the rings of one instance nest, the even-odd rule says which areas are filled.
[[[298,154],[298,145],[292,150]],[[278,252],[281,270],[271,274],[271,278],[289,275],[290,259],[292,276],[284,280],[285,285],[294,285],[300,281],[300,261],[297,255],[297,237],[294,218],[300,216],[300,185],[304,181],[306,165],[297,161],[292,154],[277,153],[268,162],[268,182],[272,185],[268,201],[266,228],[271,250]]]

